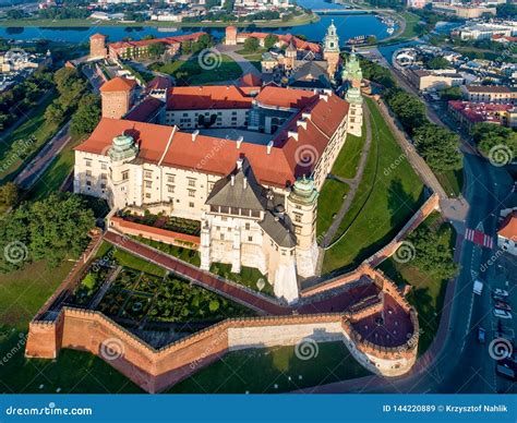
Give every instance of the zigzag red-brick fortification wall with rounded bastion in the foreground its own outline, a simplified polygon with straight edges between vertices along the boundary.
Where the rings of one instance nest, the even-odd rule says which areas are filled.
[[[378,304],[375,304],[347,315],[227,319],[155,350],[99,312],[65,307],[53,322],[31,323],[25,355],[55,359],[61,348],[87,351],[104,359],[146,391],[158,392],[228,351],[294,345],[311,338],[313,341],[344,340],[356,359],[372,372],[393,376],[404,374],[414,363],[416,348],[406,345],[396,349],[380,348],[362,340],[350,325],[378,311]],[[418,343],[418,322],[416,324]]]

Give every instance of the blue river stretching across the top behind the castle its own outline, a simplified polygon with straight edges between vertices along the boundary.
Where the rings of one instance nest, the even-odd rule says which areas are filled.
[[[323,0],[301,0],[300,4],[310,9],[341,9],[339,4],[329,3]],[[349,38],[358,35],[374,35],[377,39],[384,39],[388,36],[387,26],[382,23],[376,15],[373,14],[326,14],[322,15],[318,22],[288,27],[260,27],[254,31],[275,32],[277,34],[301,34],[309,40],[322,41],[325,32],[334,21],[337,33],[344,45]],[[248,28],[250,31],[251,28]],[[51,39],[55,41],[68,43],[87,43],[92,34],[101,33],[109,37],[110,41],[118,41],[130,37],[140,39],[145,35],[154,35],[156,37],[189,34],[197,31],[206,31],[216,38],[224,36],[225,28],[214,27],[182,27],[182,28],[157,28],[157,27],[123,27],[123,26],[91,26],[91,27],[0,27],[0,37],[14,38],[20,40],[31,39]]]

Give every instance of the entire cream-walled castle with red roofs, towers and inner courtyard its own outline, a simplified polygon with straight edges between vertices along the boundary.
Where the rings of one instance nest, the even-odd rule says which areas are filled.
[[[199,220],[203,269],[255,267],[294,302],[299,279],[316,270],[318,191],[347,133],[361,133],[361,77],[353,53],[345,99],[245,83],[171,87],[163,77],[142,89],[116,77],[100,88],[103,119],[75,148],[74,191],[115,210]]]

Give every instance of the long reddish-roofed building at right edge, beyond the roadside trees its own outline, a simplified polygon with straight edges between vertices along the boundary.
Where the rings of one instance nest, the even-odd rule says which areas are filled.
[[[517,128],[517,108],[513,105],[450,100],[448,109],[450,114],[468,130],[480,122]]]

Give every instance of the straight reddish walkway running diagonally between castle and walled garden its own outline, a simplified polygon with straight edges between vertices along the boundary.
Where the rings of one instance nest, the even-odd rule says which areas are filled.
[[[188,265],[180,259],[171,257],[170,255],[161,253],[151,246],[141,244],[140,242],[130,240],[127,237],[108,231],[104,239],[117,247],[161,266],[169,271],[189,279],[193,283],[200,285],[211,291],[215,291],[230,300],[256,310],[260,313],[272,315],[291,314],[290,307],[280,305],[273,299],[269,300],[257,292],[255,293],[244,287],[238,286],[237,283],[218,278],[208,271],[200,270],[197,267]]]

